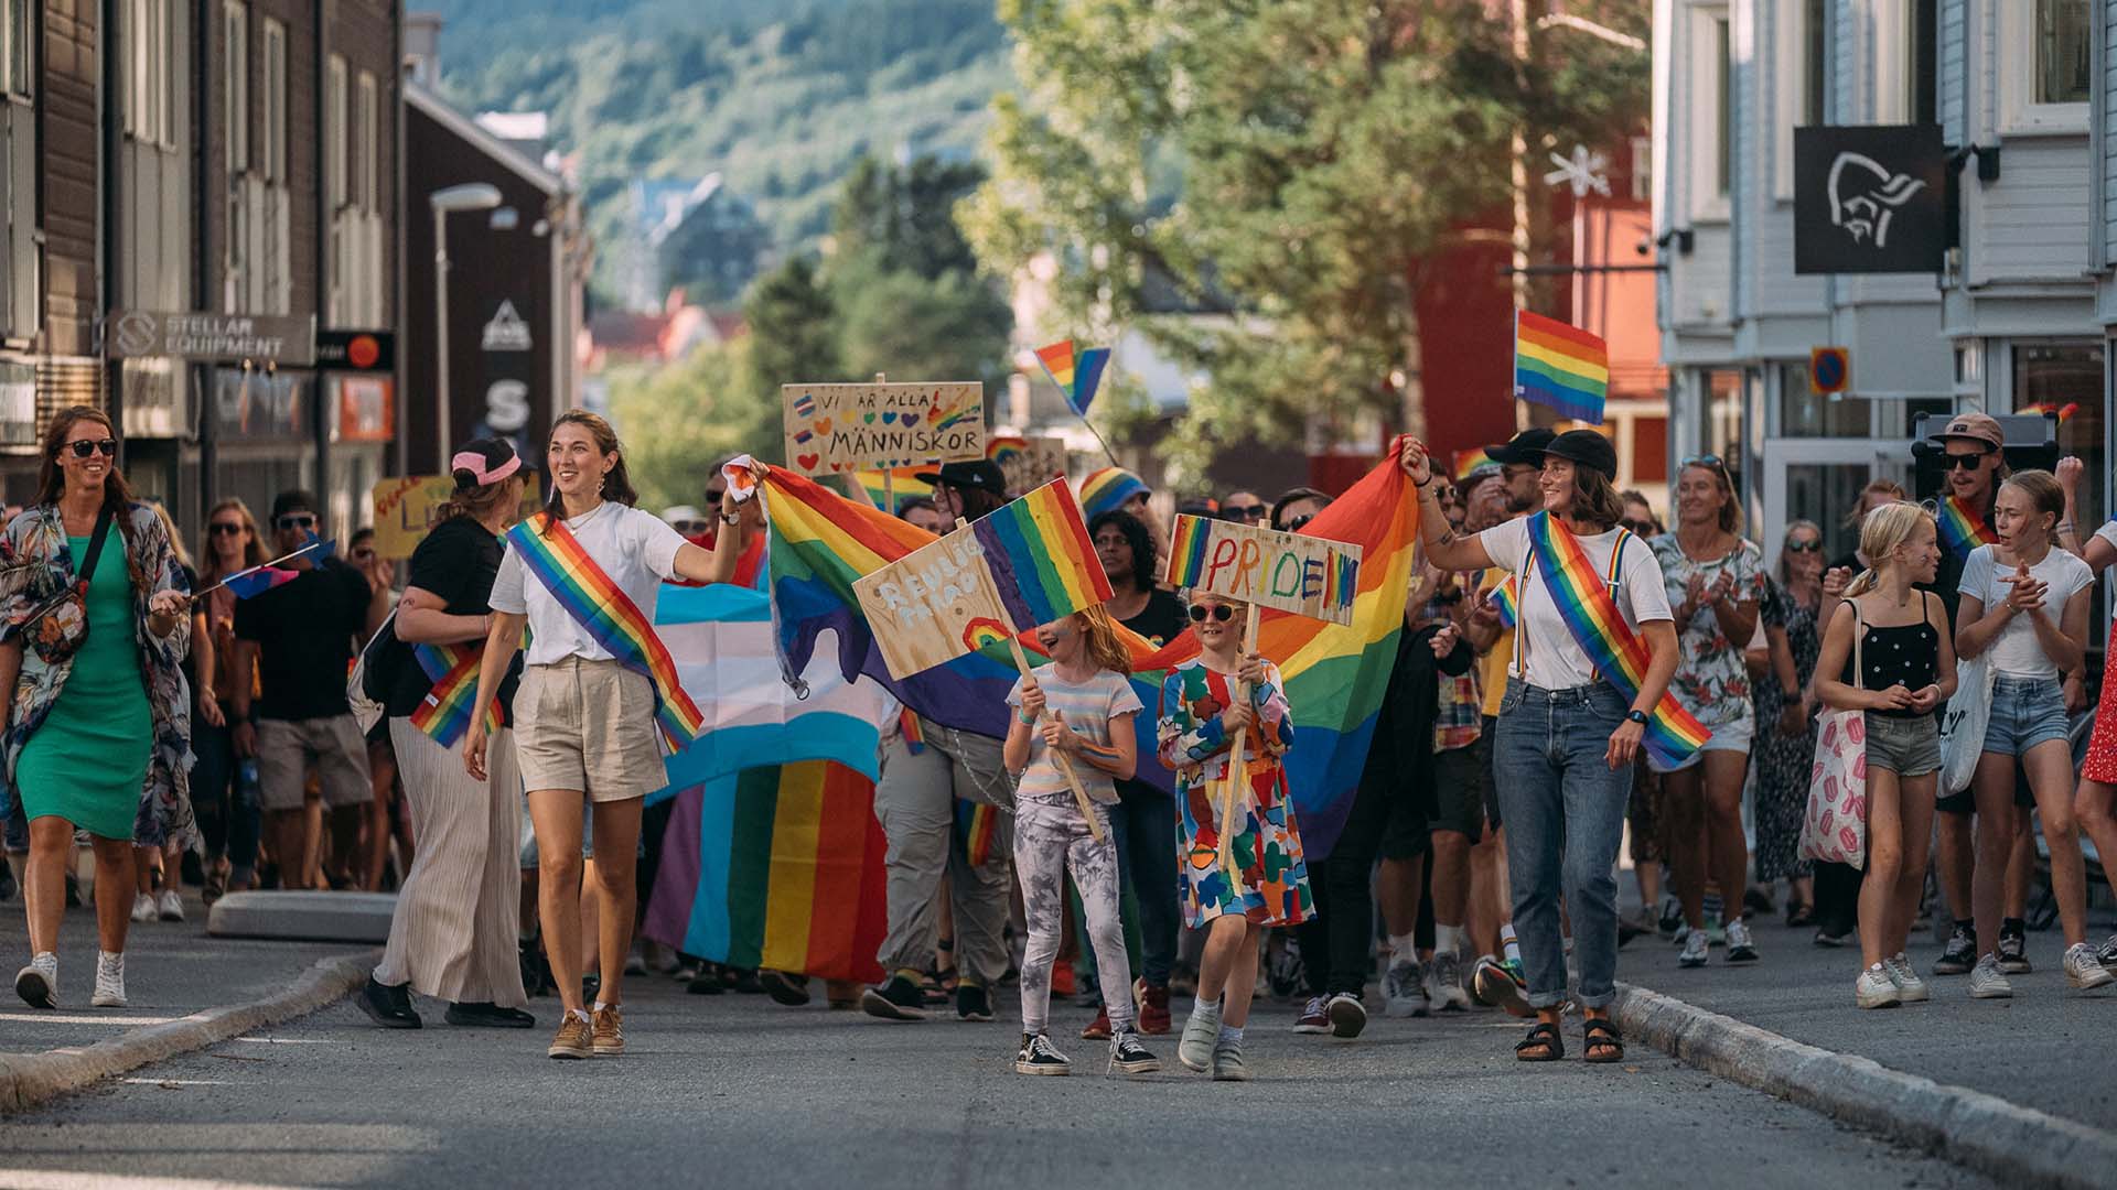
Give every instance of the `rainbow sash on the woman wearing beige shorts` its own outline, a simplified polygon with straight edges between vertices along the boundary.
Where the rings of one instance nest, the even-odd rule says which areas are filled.
[[[546,531],[548,527],[548,531]],[[682,752],[705,731],[705,716],[684,692],[675,659],[654,635],[654,625],[625,595],[601,565],[589,557],[565,521],[538,512],[508,529],[508,544],[521,553],[523,567],[544,584],[544,591],[565,608],[574,623],[589,631],[595,644],[610,650],[618,665],[639,673],[654,686],[654,722],[669,737],[669,747]]]

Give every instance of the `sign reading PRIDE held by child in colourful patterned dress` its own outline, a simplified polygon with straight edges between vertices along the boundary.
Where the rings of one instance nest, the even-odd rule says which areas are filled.
[[[1177,517],[1164,580],[1200,595],[1351,625],[1359,546],[1236,521]]]

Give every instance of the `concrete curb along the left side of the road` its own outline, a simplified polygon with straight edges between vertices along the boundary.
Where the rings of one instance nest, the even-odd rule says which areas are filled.
[[[381,961],[381,951],[318,959],[286,991],[250,1004],[207,1008],[178,1021],[131,1029],[80,1050],[0,1054],[0,1114],[23,1112],[129,1069],[315,1012],[366,982],[377,961]]]

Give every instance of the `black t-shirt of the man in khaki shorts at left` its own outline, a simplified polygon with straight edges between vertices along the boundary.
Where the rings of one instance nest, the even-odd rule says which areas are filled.
[[[328,557],[292,582],[235,601],[235,637],[258,644],[258,718],[351,714],[345,675],[366,635],[368,599],[366,576]]]

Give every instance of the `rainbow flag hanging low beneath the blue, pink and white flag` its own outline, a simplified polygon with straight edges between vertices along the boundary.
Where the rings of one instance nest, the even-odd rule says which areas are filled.
[[[874,982],[887,932],[874,781],[830,760],[675,792],[641,934],[716,963]]]

